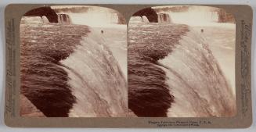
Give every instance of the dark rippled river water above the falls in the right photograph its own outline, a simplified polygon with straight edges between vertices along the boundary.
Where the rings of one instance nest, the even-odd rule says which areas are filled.
[[[174,96],[157,61],[172,52],[187,31],[178,24],[129,24],[128,108],[137,116],[167,116]]]

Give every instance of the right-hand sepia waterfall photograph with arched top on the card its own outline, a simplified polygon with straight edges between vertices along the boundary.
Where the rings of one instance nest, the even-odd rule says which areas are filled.
[[[236,23],[225,9],[166,5],[128,22],[128,109],[139,117],[236,116]]]

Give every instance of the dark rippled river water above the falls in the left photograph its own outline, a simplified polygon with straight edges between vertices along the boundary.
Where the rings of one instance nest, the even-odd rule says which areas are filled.
[[[59,61],[66,59],[80,44],[81,36],[88,33],[86,26],[20,25],[21,94],[45,116],[68,116],[75,97]]]

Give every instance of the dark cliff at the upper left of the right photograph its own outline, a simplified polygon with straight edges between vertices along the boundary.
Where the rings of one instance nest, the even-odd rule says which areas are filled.
[[[135,12],[132,16],[146,16],[147,19],[150,21],[150,23],[157,23],[158,22],[158,16],[157,12],[153,10],[152,8],[146,8],[139,10],[139,12]]]

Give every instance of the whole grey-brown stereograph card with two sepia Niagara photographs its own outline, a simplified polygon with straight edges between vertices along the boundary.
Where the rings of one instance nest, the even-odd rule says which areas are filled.
[[[8,5],[5,124],[250,127],[251,29],[248,5]]]

